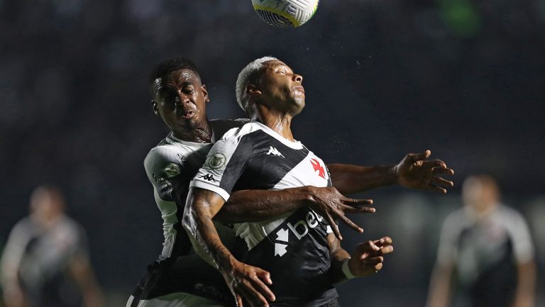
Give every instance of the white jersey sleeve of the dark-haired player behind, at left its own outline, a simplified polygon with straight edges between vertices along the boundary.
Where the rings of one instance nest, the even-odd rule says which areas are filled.
[[[169,150],[167,145],[152,148],[145,157],[145,173],[153,184],[155,200],[158,204],[162,201],[183,200],[188,190],[187,183],[194,176],[194,173],[189,174],[186,162],[185,157],[175,150]],[[185,205],[185,203],[180,204]]]

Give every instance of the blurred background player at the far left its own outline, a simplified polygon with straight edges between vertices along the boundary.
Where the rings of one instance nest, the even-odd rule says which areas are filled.
[[[83,228],[65,215],[61,192],[40,186],[31,215],[11,230],[1,259],[7,307],[100,307]]]

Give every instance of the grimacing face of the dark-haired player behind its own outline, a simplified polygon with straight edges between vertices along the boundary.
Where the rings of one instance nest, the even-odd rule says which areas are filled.
[[[155,80],[153,109],[174,132],[188,132],[206,123],[206,86],[189,69],[178,69]]]

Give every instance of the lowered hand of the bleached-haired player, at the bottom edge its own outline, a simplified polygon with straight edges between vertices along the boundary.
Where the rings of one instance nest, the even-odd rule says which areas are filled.
[[[251,307],[268,307],[268,301],[275,301],[275,295],[267,286],[272,284],[269,272],[233,259],[229,272],[221,273],[235,296],[236,306],[246,306],[244,301]]]

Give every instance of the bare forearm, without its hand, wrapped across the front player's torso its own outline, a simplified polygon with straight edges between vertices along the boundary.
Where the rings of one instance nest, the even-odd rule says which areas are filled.
[[[229,197],[214,219],[222,223],[265,221],[302,206],[312,199],[312,188],[301,186],[285,190],[243,190]]]

